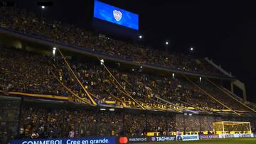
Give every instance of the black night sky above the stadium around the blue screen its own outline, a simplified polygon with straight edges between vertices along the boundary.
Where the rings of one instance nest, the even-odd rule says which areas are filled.
[[[224,70],[245,83],[247,96],[256,102],[256,9],[253,1],[149,1],[101,0],[121,9],[139,13],[142,43],[169,52],[190,53],[210,57]],[[18,7],[41,14],[37,1],[18,1]],[[91,1],[53,1],[43,16],[87,28],[90,23]],[[194,51],[189,52],[193,47]]]

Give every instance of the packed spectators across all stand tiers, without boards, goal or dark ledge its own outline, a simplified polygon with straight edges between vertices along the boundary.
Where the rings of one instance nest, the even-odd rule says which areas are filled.
[[[203,59],[113,40],[66,23],[42,20],[25,10],[1,7],[0,13],[1,28],[140,63],[223,76]],[[131,71],[120,67],[119,62],[88,62],[59,49],[56,52],[52,57],[0,45],[0,142],[14,138],[142,136],[148,132],[213,133],[214,121],[238,119],[250,121],[255,131],[255,108],[230,99],[206,79],[199,82],[198,77],[183,74],[173,77],[150,70]]]

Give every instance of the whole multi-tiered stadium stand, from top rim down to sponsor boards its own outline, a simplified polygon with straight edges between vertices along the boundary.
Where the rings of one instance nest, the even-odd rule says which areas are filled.
[[[122,25],[122,11],[111,21]],[[0,7],[0,39],[0,143],[255,137],[256,104],[245,85],[208,58],[109,38],[16,6]]]

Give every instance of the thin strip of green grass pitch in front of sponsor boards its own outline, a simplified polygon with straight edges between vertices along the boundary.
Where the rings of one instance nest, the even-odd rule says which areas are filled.
[[[227,138],[227,139],[213,139],[213,140],[195,140],[195,141],[183,141],[183,142],[157,142],[157,144],[256,144],[256,138]],[[142,143],[138,143],[142,144]],[[153,144],[153,143],[144,143],[144,144]],[[156,143],[154,143],[156,144]]]

